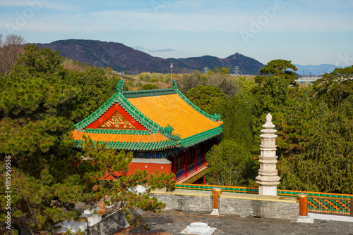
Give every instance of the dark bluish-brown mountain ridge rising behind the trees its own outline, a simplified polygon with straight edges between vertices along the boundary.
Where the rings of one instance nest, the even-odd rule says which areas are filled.
[[[173,72],[188,73],[203,70],[231,68],[239,66],[243,74],[257,75],[263,64],[253,58],[235,53],[227,58],[215,56],[201,56],[191,58],[160,58],[150,56],[148,53],[132,49],[117,42],[102,42],[95,40],[68,39],[51,42],[49,44],[36,44],[40,49],[60,51],[61,56],[80,61],[95,67],[111,67],[118,72],[131,74],[140,72],[170,72],[170,63],[173,63]]]

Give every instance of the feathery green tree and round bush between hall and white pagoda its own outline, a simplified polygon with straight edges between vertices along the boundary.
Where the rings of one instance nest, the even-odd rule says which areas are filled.
[[[253,97],[239,91],[222,102],[220,113],[224,121],[223,139],[206,155],[209,182],[220,185],[249,186],[256,177],[258,167],[252,156]]]

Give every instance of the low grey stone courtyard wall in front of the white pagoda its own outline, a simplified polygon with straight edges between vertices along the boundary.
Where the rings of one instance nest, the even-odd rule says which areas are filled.
[[[207,214],[213,212],[214,208],[214,195],[211,191],[177,189],[170,193],[161,189],[153,191],[152,196],[166,203],[164,210]],[[224,192],[218,196],[218,211],[220,215],[297,220],[299,201],[297,198],[283,196]]]

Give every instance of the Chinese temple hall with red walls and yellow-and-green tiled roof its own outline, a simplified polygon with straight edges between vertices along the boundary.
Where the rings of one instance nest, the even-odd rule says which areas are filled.
[[[133,152],[128,174],[137,169],[173,172],[179,183],[202,182],[205,153],[223,132],[220,115],[209,115],[177,89],[123,91],[115,94],[72,132],[76,147],[83,136],[105,142],[107,148]]]

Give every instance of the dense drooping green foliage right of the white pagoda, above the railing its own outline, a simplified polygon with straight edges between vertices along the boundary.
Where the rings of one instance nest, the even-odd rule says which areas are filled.
[[[352,110],[352,103],[347,102],[345,106]],[[289,182],[285,177],[283,186],[297,190],[353,193],[352,121],[349,112],[329,110],[321,103],[309,120],[308,131],[301,143],[302,153],[291,159],[293,168],[288,167],[289,172],[285,174],[295,174],[297,179]]]

